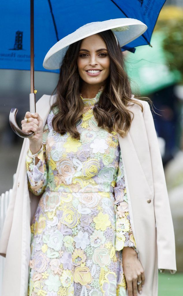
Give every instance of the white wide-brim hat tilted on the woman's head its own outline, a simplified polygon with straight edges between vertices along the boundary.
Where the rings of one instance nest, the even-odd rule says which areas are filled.
[[[147,28],[140,20],[127,17],[103,22],[90,22],[54,44],[44,58],[43,67],[49,70],[59,69],[69,45],[88,36],[112,30],[122,47],[142,35]]]

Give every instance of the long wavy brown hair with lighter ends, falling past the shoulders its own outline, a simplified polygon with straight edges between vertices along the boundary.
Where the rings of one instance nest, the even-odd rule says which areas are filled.
[[[128,110],[127,104],[133,102],[141,107],[140,102],[131,99],[132,91],[130,80],[126,72],[125,57],[117,45],[111,30],[98,33],[106,43],[110,57],[110,74],[107,78],[103,92],[98,103],[93,107],[93,115],[98,126],[108,132],[116,131],[122,137],[127,135],[134,114]],[[82,79],[77,69],[77,58],[82,40],[71,44],[64,56],[60,67],[59,81],[56,91],[56,102],[52,109],[57,106],[57,112],[52,120],[54,131],[61,135],[68,132],[75,139],[80,139],[76,123],[82,118],[84,103],[80,97]],[[137,96],[135,96],[137,98]],[[148,99],[139,97],[139,99]],[[59,111],[58,111],[59,110]]]

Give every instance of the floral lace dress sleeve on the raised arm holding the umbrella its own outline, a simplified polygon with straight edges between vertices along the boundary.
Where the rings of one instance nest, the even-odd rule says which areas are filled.
[[[46,160],[46,139],[48,133],[48,124],[46,122],[43,128],[43,151],[38,155],[38,163],[35,165],[35,160],[28,157],[28,155],[26,156],[28,188],[35,195],[43,193],[48,183],[48,165]],[[32,155],[30,149],[28,149],[28,154]]]

